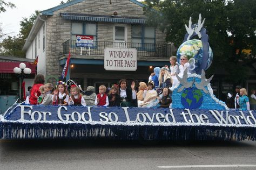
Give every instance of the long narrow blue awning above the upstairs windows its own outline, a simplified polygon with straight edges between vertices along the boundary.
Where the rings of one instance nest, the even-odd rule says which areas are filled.
[[[110,22],[110,23],[131,23],[145,24],[146,18],[136,17],[118,17],[118,16],[103,16],[103,15],[88,15],[80,13],[60,13],[63,19],[67,20],[82,20],[89,22]]]

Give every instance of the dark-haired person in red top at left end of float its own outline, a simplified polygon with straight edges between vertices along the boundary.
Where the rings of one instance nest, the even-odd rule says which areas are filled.
[[[37,97],[35,96],[35,93],[37,96],[40,96],[41,93],[39,91],[39,87],[44,85],[44,75],[43,74],[37,74],[34,80],[34,84],[32,86],[30,97],[29,97],[29,103],[32,105],[37,104]]]

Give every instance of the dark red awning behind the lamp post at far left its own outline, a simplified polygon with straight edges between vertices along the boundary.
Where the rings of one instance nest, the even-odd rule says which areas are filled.
[[[14,61],[14,62],[9,62],[9,61],[1,61],[0,62],[0,73],[14,73],[14,68],[19,67],[19,64],[21,61]],[[36,65],[33,65],[33,62],[23,62],[25,63],[26,67],[31,69],[31,74],[36,73]]]

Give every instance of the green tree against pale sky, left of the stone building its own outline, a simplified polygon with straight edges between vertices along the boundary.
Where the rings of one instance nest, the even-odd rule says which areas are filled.
[[[22,48],[38,15],[39,11],[35,11],[29,18],[24,17],[20,23],[21,30],[19,31],[19,34],[13,37],[8,36],[3,39],[0,43],[1,55],[25,57],[25,52],[22,51]]]

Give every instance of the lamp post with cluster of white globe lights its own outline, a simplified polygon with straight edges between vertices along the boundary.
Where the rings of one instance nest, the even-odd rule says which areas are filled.
[[[25,63],[20,63],[19,67],[15,67],[14,68],[14,73],[15,74],[19,74],[19,99],[21,100],[21,102],[23,101],[23,95],[22,95],[22,83],[25,77],[25,74],[30,74],[31,73],[31,69],[30,68],[26,68]]]

